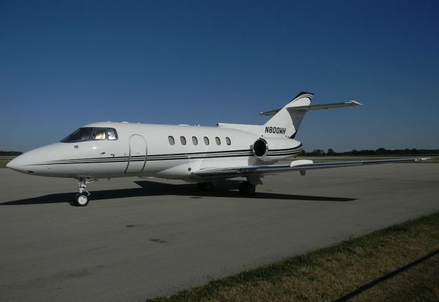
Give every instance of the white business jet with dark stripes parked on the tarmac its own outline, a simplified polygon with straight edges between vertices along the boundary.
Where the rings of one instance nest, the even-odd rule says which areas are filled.
[[[179,178],[211,190],[215,181],[246,178],[241,194],[254,194],[264,174],[352,165],[418,161],[392,159],[313,163],[309,160],[276,165],[302,151],[294,139],[307,111],[349,106],[358,102],[311,105],[312,93],[299,93],[283,108],[261,113],[272,116],[263,125],[222,124],[215,127],[99,122],[88,124],[48,146],[21,154],[8,163],[30,175],[76,178],[79,192],[73,204],[88,204],[86,184],[99,178]]]

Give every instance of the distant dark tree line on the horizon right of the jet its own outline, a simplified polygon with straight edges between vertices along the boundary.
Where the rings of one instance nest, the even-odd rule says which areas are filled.
[[[394,149],[387,150],[385,148],[378,148],[377,150],[352,150],[346,152],[335,152],[333,149],[324,150],[315,149],[312,152],[305,150],[300,153],[300,156],[365,156],[365,155],[435,155],[439,154],[439,149]]]

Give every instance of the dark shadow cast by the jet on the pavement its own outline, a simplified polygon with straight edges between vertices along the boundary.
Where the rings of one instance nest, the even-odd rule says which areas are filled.
[[[139,196],[191,196],[193,198],[209,198],[209,197],[224,197],[224,198],[254,198],[254,199],[273,199],[273,200],[311,200],[311,201],[335,201],[347,202],[353,201],[357,198],[342,198],[342,197],[328,197],[328,196],[308,196],[308,195],[294,195],[281,194],[275,192],[257,192],[253,196],[240,195],[237,187],[237,181],[222,181],[212,191],[199,191],[196,185],[193,184],[169,184],[156,183],[153,181],[134,181],[139,188],[130,189],[109,189],[101,191],[91,191],[91,200],[105,200],[116,198],[128,198]],[[0,205],[38,205],[46,203],[60,203],[69,202],[74,196],[74,193],[58,193],[49,194],[45,196],[38,196],[34,198],[25,198],[21,200],[12,200],[1,202]]]

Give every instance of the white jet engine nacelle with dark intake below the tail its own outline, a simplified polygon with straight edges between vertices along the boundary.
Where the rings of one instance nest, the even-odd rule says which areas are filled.
[[[302,144],[294,139],[263,137],[254,141],[252,151],[261,161],[278,161],[301,152]]]

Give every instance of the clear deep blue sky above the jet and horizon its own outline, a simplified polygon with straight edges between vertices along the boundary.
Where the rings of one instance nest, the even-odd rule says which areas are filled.
[[[0,0],[0,150],[92,121],[263,124],[306,150],[439,148],[439,1]]]

